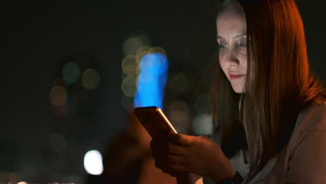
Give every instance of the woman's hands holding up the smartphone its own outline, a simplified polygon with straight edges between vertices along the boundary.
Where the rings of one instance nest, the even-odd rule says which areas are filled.
[[[155,166],[171,176],[194,173],[210,176],[219,183],[235,174],[221,148],[205,136],[169,133],[162,139],[153,139],[150,148]]]

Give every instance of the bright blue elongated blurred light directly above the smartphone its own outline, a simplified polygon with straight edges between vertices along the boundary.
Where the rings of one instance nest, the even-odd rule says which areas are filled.
[[[169,61],[160,52],[141,58],[134,107],[156,106],[162,109],[168,67]]]

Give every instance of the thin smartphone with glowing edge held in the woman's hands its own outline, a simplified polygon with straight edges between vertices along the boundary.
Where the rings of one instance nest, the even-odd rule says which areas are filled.
[[[162,109],[158,107],[137,107],[134,109],[134,116],[153,139],[161,137],[166,132],[177,133]]]

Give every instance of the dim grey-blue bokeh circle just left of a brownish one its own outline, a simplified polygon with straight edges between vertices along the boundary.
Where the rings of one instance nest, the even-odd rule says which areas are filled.
[[[62,78],[67,84],[75,84],[80,75],[79,67],[74,62],[65,63],[62,68]]]

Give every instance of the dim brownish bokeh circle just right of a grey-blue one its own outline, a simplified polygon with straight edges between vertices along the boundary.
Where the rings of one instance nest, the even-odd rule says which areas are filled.
[[[100,84],[100,74],[93,68],[88,68],[81,75],[81,82],[86,89],[96,89]]]

